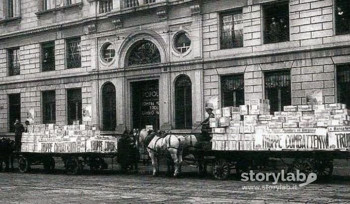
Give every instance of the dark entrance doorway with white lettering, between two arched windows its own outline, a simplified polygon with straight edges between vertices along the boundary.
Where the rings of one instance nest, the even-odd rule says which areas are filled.
[[[159,86],[158,80],[132,83],[133,127],[145,128],[153,125],[159,129]]]

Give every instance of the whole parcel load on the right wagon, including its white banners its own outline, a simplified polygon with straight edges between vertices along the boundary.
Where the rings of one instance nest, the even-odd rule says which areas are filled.
[[[345,104],[288,105],[270,114],[268,100],[223,107],[210,118],[212,150],[350,150]]]

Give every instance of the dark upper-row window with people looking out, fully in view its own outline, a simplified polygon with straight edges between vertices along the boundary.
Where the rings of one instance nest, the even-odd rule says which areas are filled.
[[[289,3],[263,5],[264,44],[289,41]]]

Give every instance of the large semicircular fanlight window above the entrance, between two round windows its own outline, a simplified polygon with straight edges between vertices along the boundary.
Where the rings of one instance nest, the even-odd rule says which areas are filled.
[[[160,53],[149,40],[139,40],[129,49],[127,66],[160,63]]]

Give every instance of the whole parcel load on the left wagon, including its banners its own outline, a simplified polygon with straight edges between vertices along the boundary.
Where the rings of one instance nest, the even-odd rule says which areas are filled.
[[[116,137],[101,135],[96,127],[84,124],[29,125],[21,142],[22,152],[115,152],[117,149]]]

